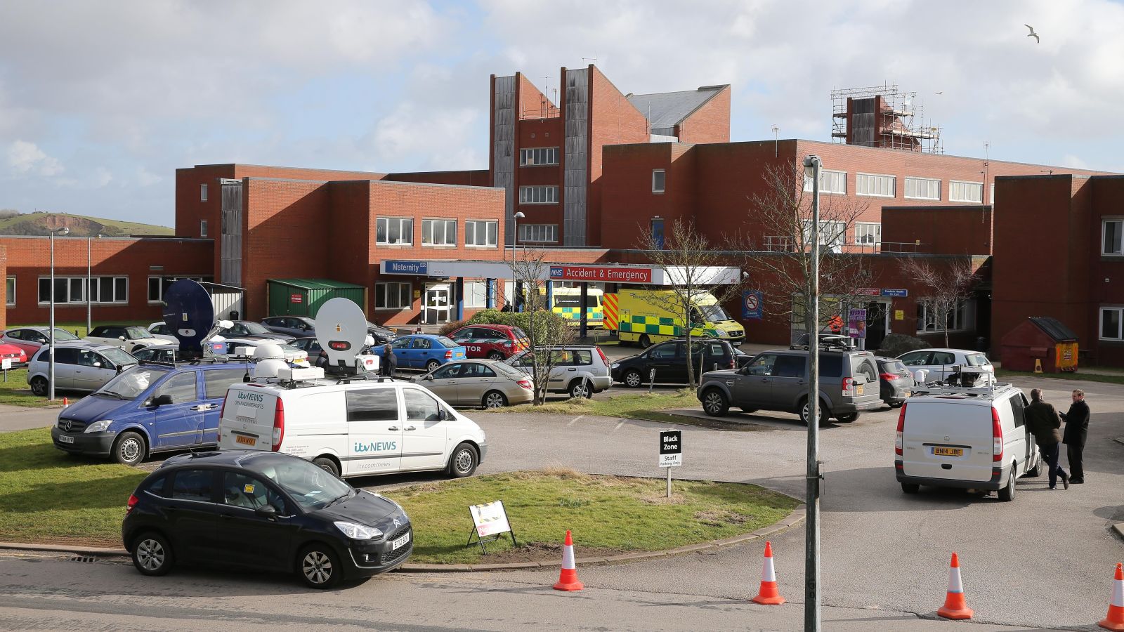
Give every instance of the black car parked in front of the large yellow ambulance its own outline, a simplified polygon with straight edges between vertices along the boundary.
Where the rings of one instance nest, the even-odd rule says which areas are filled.
[[[695,376],[718,369],[736,367],[734,346],[724,340],[691,340],[691,362],[695,363]],[[701,370],[700,370],[701,369]],[[655,370],[655,383],[687,383],[687,340],[679,338],[654,344],[649,349],[622,358],[611,365],[613,381],[623,382],[629,388],[637,388],[652,380]]]

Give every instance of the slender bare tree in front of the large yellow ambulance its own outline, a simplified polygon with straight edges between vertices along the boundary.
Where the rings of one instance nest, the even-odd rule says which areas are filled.
[[[687,338],[687,382],[695,388],[691,338],[708,317],[703,313],[707,307],[700,307],[699,299],[707,294],[713,295],[720,308],[742,291],[742,274],[734,279],[723,274],[728,270],[729,254],[716,250],[690,219],[672,222],[663,238],[651,232],[644,234],[645,237],[637,247],[647,251],[652,264],[663,271],[671,285],[665,286],[662,292],[645,292],[643,297],[646,303],[673,313],[676,320],[683,324]]]

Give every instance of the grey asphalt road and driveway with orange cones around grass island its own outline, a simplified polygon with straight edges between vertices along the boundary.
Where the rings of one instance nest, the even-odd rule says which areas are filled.
[[[1124,394],[1113,385],[1026,379],[1046,399],[1079,386],[1094,415],[1086,480],[1050,491],[1024,479],[1013,503],[995,495],[923,488],[906,496],[894,479],[896,410],[864,414],[821,433],[826,480],[822,567],[825,629],[924,630],[944,598],[948,563],[960,554],[975,622],[1023,629],[1089,629],[1107,610],[1124,544]],[[685,410],[685,414],[698,414]],[[794,415],[741,415],[768,430],[683,427],[685,466],[676,477],[751,481],[801,497],[805,428]],[[479,414],[491,451],[481,472],[550,464],[587,472],[660,476],[656,431],[646,422],[592,416]],[[388,487],[426,477],[357,479]],[[389,493],[392,496],[392,491]],[[488,499],[481,499],[488,500]],[[561,539],[566,525],[559,525]],[[581,534],[577,533],[578,557]],[[182,570],[146,579],[124,565],[57,558],[0,559],[0,628],[396,630],[718,630],[800,628],[804,529],[772,538],[781,594],[789,604],[746,603],[756,593],[763,543],[651,562],[579,569],[587,589],[551,590],[556,570],[502,574],[391,574],[329,594],[288,578]],[[248,597],[248,598],[247,598]],[[926,619],[918,619],[926,617]],[[973,629],[999,629],[988,625]]]

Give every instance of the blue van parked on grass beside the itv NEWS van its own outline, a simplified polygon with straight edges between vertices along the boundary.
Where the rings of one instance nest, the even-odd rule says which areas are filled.
[[[226,389],[244,362],[144,362],[63,408],[55,448],[135,466],[153,452],[215,446]]]

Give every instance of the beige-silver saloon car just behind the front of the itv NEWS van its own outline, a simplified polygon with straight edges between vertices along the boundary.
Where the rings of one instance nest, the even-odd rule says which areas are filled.
[[[454,406],[499,408],[534,399],[527,374],[495,360],[448,362],[410,381]]]

